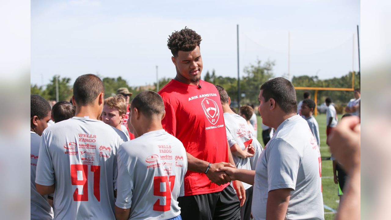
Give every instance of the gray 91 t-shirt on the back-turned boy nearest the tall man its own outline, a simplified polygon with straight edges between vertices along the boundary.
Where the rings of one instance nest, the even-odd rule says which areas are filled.
[[[186,171],[185,147],[163,129],[125,142],[118,150],[115,205],[130,208],[132,220],[174,218],[181,213]]]

